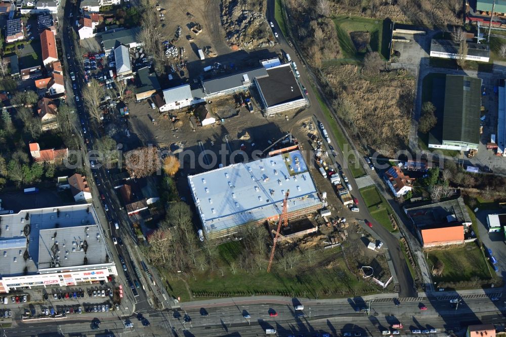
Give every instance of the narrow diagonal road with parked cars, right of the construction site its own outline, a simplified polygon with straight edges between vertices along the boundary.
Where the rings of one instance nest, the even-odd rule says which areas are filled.
[[[278,25],[278,23],[275,20],[274,15],[274,0],[268,0],[267,1],[267,20],[272,21],[274,24],[274,30],[277,32],[281,32],[281,29]],[[310,71],[308,68],[305,67],[305,63],[302,62],[298,58],[298,53],[291,47],[291,44],[288,44],[287,40],[283,36],[283,34],[279,33],[278,42],[280,46],[282,47],[282,50],[285,53],[290,54],[290,57],[293,61],[296,61],[299,65],[299,72],[301,74],[300,80],[304,84],[306,88],[311,88],[310,83],[314,82],[310,80]],[[313,90],[309,90],[309,99],[312,102],[311,109],[314,111],[314,114],[316,118],[321,121],[324,125],[326,125],[326,117],[323,111],[321,110],[319,104],[317,103],[318,100],[316,98],[316,95],[314,94]],[[328,125],[326,125],[328,126]],[[330,130],[329,128],[326,128],[326,130]],[[329,134],[330,140],[332,144],[338,144],[336,141],[336,138],[332,133]],[[324,138],[322,138],[324,139]],[[325,142],[324,142],[325,143]],[[328,144],[325,144],[325,147],[328,150]],[[358,186],[353,179],[353,175],[351,174],[351,171],[348,169],[346,163],[348,160],[344,160],[343,153],[341,151],[337,151],[338,156],[337,158],[333,158],[332,161],[334,163],[334,166],[336,165],[336,161],[342,163],[343,165],[343,171],[346,174],[346,176],[349,178],[350,184],[353,188],[354,193],[352,193],[355,197],[359,200],[359,205],[364,205],[364,200],[362,199],[360,193],[358,192]],[[329,151],[330,153],[330,151]],[[390,256],[395,268],[395,272],[398,278],[399,282],[399,296],[401,297],[415,297],[416,291],[414,289],[414,282],[413,278],[411,276],[411,273],[409,272],[409,268],[407,266],[406,260],[404,259],[404,254],[401,250],[401,246],[399,243],[399,240],[392,235],[385,227],[383,227],[381,224],[376,222],[374,218],[371,217],[369,212],[367,211],[366,207],[360,207],[360,212],[357,215],[357,218],[361,218],[362,220],[367,219],[372,223],[372,230],[376,233],[378,237],[381,238],[382,242],[385,246],[388,247]],[[365,226],[365,224],[363,225]]]

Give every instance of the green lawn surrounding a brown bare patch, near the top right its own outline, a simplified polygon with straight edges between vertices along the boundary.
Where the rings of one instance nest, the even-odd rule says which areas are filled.
[[[378,52],[386,58],[383,48],[383,20],[374,20],[360,17],[340,16],[333,19],[338,33],[339,45],[344,59],[362,60],[365,53],[356,50],[350,37],[350,32],[369,32],[369,46],[372,51]],[[388,48],[387,48],[388,49]]]

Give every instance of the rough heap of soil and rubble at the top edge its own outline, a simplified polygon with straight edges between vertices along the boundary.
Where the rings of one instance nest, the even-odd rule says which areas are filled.
[[[273,40],[266,8],[266,0],[222,0],[221,21],[230,47],[255,49]]]

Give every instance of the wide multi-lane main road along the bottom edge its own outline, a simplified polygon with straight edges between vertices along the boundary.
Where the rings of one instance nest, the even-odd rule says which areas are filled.
[[[493,296],[501,297],[501,293]],[[9,335],[41,335],[56,333],[61,330],[65,334],[92,334],[103,332],[105,329],[120,334],[129,335],[195,335],[220,336],[224,334],[254,336],[263,335],[266,328],[274,328],[278,335],[292,333],[315,332],[339,335],[344,332],[360,332],[362,336],[380,335],[392,324],[402,323],[401,334],[410,334],[412,329],[437,328],[439,331],[453,330],[457,334],[465,332],[468,324],[493,323],[498,326],[504,324],[504,309],[506,303],[501,298],[492,302],[485,295],[463,296],[459,307],[449,302],[451,297],[412,298],[401,300],[400,305],[394,305],[391,298],[379,299],[370,303],[360,298],[322,301],[302,301],[303,311],[294,310],[293,300],[277,297],[230,299],[217,301],[214,305],[210,301],[188,303],[186,310],[180,312],[159,311],[151,312],[149,321],[151,326],[143,327],[132,318],[134,329],[125,329],[118,317],[100,318],[100,330],[92,330],[90,320],[65,320],[53,324],[20,324],[16,329],[9,329]],[[202,316],[200,307],[205,307],[207,316]],[[420,310],[426,306],[427,310]],[[357,313],[357,308],[365,311]],[[367,310],[370,308],[370,315]],[[501,312],[502,310],[502,312]],[[271,317],[270,313],[277,313]],[[304,317],[295,317],[304,313]],[[249,320],[243,315],[250,315]],[[185,322],[184,317],[191,319]],[[458,333],[460,331],[460,333]],[[35,333],[36,332],[36,333]],[[435,336],[432,336],[435,337]]]

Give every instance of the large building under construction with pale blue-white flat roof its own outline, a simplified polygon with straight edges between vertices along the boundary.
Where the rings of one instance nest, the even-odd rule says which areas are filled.
[[[289,221],[322,207],[300,150],[188,176],[188,183],[207,238],[279,219],[287,190]]]

